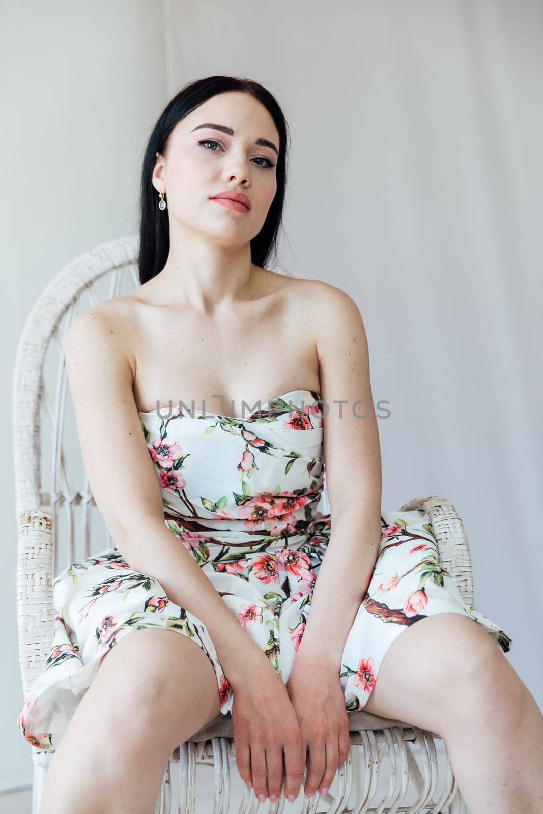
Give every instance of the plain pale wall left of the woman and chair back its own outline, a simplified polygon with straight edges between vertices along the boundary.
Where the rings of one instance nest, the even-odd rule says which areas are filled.
[[[2,659],[0,792],[32,781],[15,614],[15,348],[34,300],[74,256],[137,230],[141,154],[167,101],[160,2],[0,5]],[[7,299],[10,304],[7,307]]]

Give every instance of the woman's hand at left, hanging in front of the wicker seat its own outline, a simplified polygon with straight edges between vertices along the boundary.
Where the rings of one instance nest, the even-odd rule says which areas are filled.
[[[300,724],[287,689],[265,654],[233,685],[232,730],[236,764],[255,795],[273,802],[281,793],[283,750],[285,797],[293,803],[304,779]],[[267,663],[267,664],[266,664]],[[267,778],[266,778],[267,772]]]

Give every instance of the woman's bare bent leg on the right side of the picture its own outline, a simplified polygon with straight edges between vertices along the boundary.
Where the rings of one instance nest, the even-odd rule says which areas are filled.
[[[392,643],[364,707],[444,738],[469,814],[543,811],[543,716],[473,619],[421,619]]]

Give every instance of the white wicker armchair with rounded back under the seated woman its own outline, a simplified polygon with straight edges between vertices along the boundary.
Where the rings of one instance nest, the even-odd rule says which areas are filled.
[[[71,562],[114,545],[89,489],[75,416],[70,423],[67,413],[67,406],[72,405],[67,399],[64,335],[78,312],[138,286],[137,252],[138,237],[131,235],[103,243],[72,260],[34,304],[20,339],[14,379],[13,439],[19,518],[17,618],[24,698],[52,642],[53,575]],[[77,468],[78,474],[73,475]],[[424,497],[401,507],[413,509],[427,514],[441,562],[466,603],[473,605],[470,552],[462,520],[453,505],[441,497]],[[100,533],[105,533],[108,540],[105,545],[103,537],[99,538],[100,545],[91,545],[95,523],[102,524]],[[436,733],[365,711],[349,712],[348,719],[355,748],[336,773],[337,792],[322,799],[319,794],[313,800],[304,798],[303,814],[315,814],[319,802],[318,811],[333,814],[466,812],[446,750],[443,767],[439,766],[436,742],[441,739]],[[444,747],[443,742],[440,746]],[[37,814],[43,779],[54,753],[31,748],[32,812]],[[284,788],[276,803],[258,803],[252,791],[245,788],[243,799],[230,805],[230,764],[234,754],[230,714],[219,716],[173,751],[160,797],[150,814],[195,812],[197,764],[214,765],[214,814],[254,814],[261,805],[269,805],[271,814],[282,812]],[[387,768],[383,772],[385,758]],[[388,780],[388,789],[381,791],[375,802],[379,777]],[[437,794],[440,777],[444,782]],[[416,799],[406,806],[409,794]]]

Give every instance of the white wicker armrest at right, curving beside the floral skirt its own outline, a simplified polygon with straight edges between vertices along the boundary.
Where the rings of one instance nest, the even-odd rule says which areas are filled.
[[[441,565],[449,571],[467,606],[473,606],[473,570],[470,545],[462,519],[453,504],[444,497],[414,497],[400,511],[417,509],[427,514],[437,540]]]

